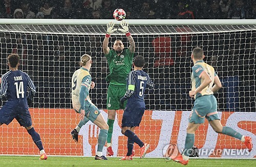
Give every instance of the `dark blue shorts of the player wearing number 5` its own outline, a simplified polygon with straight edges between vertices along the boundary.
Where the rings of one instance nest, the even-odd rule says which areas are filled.
[[[139,126],[141,118],[144,114],[145,108],[130,108],[126,107],[123,112],[121,127],[135,127]]]

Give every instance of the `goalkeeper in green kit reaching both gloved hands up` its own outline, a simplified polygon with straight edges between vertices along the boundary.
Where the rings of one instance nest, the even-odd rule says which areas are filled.
[[[112,133],[113,133],[113,125],[116,117],[116,110],[124,109],[126,103],[123,105],[120,104],[120,99],[124,96],[126,92],[126,78],[129,75],[132,63],[133,63],[133,54],[135,51],[135,42],[133,37],[129,33],[128,23],[125,21],[121,22],[121,29],[114,29],[114,23],[110,22],[107,24],[107,33],[105,35],[103,41],[103,52],[105,54],[106,59],[108,60],[110,73],[106,76],[106,80],[110,82],[108,88],[107,95],[107,109],[108,109],[108,138],[107,142],[107,151],[106,154],[108,156],[114,155],[111,145]],[[111,33],[119,30],[125,33],[128,41],[129,48],[124,49],[123,43],[120,39],[117,39],[114,42],[113,50],[111,50],[108,46],[109,38]],[[130,143],[128,143],[130,144]]]

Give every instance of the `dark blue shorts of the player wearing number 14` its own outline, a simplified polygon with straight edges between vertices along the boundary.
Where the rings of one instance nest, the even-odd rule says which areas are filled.
[[[0,122],[8,125],[16,119],[20,126],[29,127],[32,125],[28,104],[19,101],[7,101],[0,109]]]

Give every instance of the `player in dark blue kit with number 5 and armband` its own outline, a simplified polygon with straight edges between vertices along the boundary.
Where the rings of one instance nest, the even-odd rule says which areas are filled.
[[[131,71],[127,78],[127,91],[121,98],[120,103],[123,104],[127,100],[122,118],[122,134],[128,137],[127,154],[120,160],[132,160],[132,151],[134,142],[140,146],[140,158],[146,154],[149,144],[144,144],[134,133],[134,128],[140,125],[141,118],[145,110],[144,92],[146,87],[153,88],[153,82],[148,74],[142,71],[145,60],[141,55],[134,59],[134,71]]]

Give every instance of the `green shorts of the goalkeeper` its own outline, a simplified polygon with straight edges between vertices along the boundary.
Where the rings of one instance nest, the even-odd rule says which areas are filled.
[[[120,99],[124,96],[126,92],[126,85],[116,86],[113,84],[109,85],[108,95],[106,99],[106,108],[107,109],[124,109],[127,101],[124,101],[123,105],[120,105]]]

